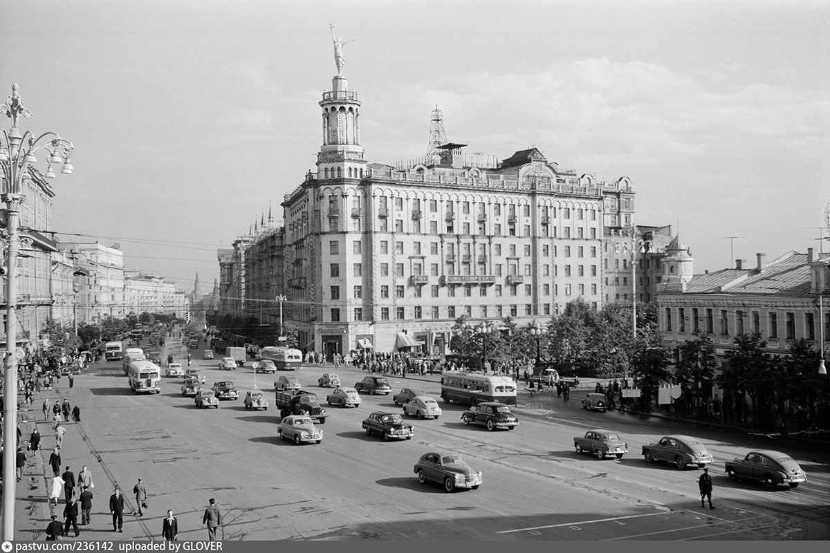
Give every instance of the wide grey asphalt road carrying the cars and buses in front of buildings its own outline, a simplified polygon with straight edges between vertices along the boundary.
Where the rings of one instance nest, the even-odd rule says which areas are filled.
[[[245,410],[244,392],[254,384],[250,363],[237,371],[219,371],[218,358],[202,361],[202,350],[203,342],[190,352],[193,366],[203,367],[207,386],[232,380],[242,392],[239,400],[222,401],[218,410],[198,410],[193,399],[181,395],[181,379],[173,378],[163,379],[159,395],[134,395],[116,361],[93,364],[73,389],[61,386],[53,392],[68,396],[82,409],[83,422],[71,425],[62,450],[65,465],[77,471],[87,464],[95,478],[93,525],[82,529],[82,537],[159,539],[169,508],[178,516],[180,539],[206,539],[202,513],[209,497],[215,497],[222,510],[225,540],[830,537],[826,450],[810,451],[793,443],[788,453],[808,472],[808,483],[768,491],[752,483],[732,483],[722,472],[725,459],[752,448],[769,448],[763,439],[666,420],[589,413],[579,408],[576,394],[564,402],[555,395],[530,399],[524,393],[516,409],[520,426],[512,431],[491,433],[465,426],[460,420],[463,406],[442,403],[439,420],[410,420],[416,429],[413,439],[385,442],[367,437],[360,423],[373,410],[399,408],[391,395],[364,395],[358,408],[330,408],[321,426],[321,444],[296,446],[276,438],[276,377],[256,375],[256,386],[266,390],[270,409]],[[292,374],[325,400],[326,390],[316,382],[332,370],[306,366]],[[354,369],[341,367],[337,372],[348,386],[362,377]],[[395,391],[416,384],[413,378],[388,380]],[[437,396],[437,376],[417,381],[417,387]],[[49,448],[47,426],[42,424],[41,434]],[[629,454],[621,460],[575,454],[574,436],[592,428],[618,431]],[[715,455],[715,511],[700,507],[699,469],[680,471],[642,460],[641,445],[666,434],[694,434]],[[413,464],[431,450],[463,454],[483,473],[481,488],[446,493],[438,485],[419,484]],[[149,489],[149,511],[141,518],[126,516],[125,533],[115,534],[106,498],[119,483],[134,505],[129,492],[139,477]]]

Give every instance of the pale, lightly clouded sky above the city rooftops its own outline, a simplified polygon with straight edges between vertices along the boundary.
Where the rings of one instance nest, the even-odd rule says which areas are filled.
[[[3,3],[0,101],[75,145],[52,230],[182,289],[315,170],[331,23],[369,163],[425,155],[437,106],[468,153],[629,177],[696,273],[830,236],[830,2]]]

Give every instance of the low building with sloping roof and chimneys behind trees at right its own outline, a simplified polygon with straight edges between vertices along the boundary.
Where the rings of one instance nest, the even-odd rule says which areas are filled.
[[[825,338],[830,337],[830,306],[825,298],[820,313],[818,301],[830,293],[830,255],[816,259],[811,248],[764,264],[764,254],[758,254],[752,268],[736,260],[735,269],[692,275],[694,260],[679,237],[666,254],[657,293],[666,347],[676,347],[701,330],[712,337],[722,364],[740,334],[758,332],[774,355],[787,354],[798,338],[815,342],[818,350],[820,324]]]

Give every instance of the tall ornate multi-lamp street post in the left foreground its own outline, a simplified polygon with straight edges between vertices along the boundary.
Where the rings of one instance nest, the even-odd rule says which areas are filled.
[[[35,138],[30,131],[21,135],[17,128],[17,118],[31,117],[32,112],[23,106],[17,91],[17,84],[12,85],[12,95],[5,104],[0,105],[0,114],[12,119],[11,129],[2,130],[0,138],[0,177],[2,177],[2,199],[6,204],[8,228],[8,255],[6,281],[6,351],[3,354],[3,371],[6,386],[3,390],[3,497],[2,497],[2,540],[14,540],[14,502],[17,497],[15,487],[15,447],[17,437],[17,361],[22,357],[22,350],[17,350],[17,247],[20,237],[17,235],[17,215],[25,200],[23,182],[32,178],[33,163],[37,163],[36,154],[45,150],[48,155],[44,177],[55,178],[52,165],[62,163],[61,173],[72,172],[69,159],[74,146],[56,133],[43,133]]]

